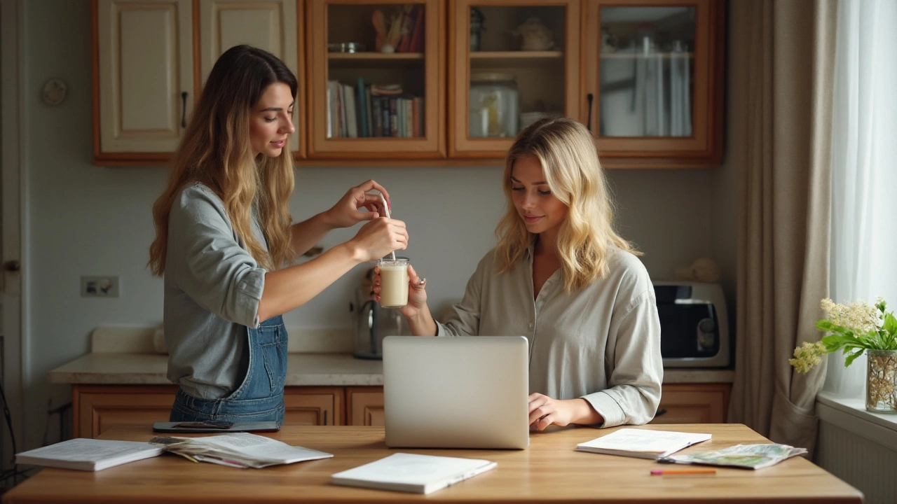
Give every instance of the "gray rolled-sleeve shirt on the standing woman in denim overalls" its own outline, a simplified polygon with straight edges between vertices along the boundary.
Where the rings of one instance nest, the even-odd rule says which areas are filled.
[[[265,238],[253,219],[252,231]],[[203,184],[171,205],[165,264],[168,378],[189,395],[230,395],[248,365],[247,326],[258,326],[265,269],[231,225],[221,198]]]

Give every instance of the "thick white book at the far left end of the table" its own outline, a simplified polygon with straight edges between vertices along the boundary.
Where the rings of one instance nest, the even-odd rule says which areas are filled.
[[[161,452],[160,447],[138,441],[77,438],[16,454],[15,463],[101,471],[113,465],[157,456]]]

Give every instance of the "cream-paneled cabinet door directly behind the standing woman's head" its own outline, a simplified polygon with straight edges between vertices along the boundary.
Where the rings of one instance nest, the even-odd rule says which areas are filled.
[[[297,76],[299,89],[296,103],[303,103],[304,74],[300,71],[298,27],[302,26],[296,9],[296,0],[201,0],[199,4],[200,80],[196,95],[202,91],[205,79],[212,71],[218,56],[239,44],[265,49],[277,56]],[[305,110],[295,107],[293,122],[296,133],[292,135],[290,149],[300,152],[302,131],[300,117]],[[301,152],[300,152],[301,157]]]

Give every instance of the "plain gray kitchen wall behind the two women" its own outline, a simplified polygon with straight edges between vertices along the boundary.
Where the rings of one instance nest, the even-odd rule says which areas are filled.
[[[91,20],[86,1],[24,2],[28,147],[25,254],[27,312],[23,335],[25,432],[20,446],[39,445],[53,406],[71,400],[69,387],[47,383],[50,369],[89,352],[96,326],[161,323],[162,283],[146,269],[153,238],[151,205],[161,192],[159,168],[100,168],[91,164]],[[40,100],[51,77],[65,80],[68,98],[57,107]],[[726,168],[730,170],[730,168]],[[723,283],[733,295],[735,253],[734,182],[722,168],[615,170],[610,173],[623,236],[645,252],[653,278],[698,256],[724,266]],[[490,168],[303,168],[292,197],[294,218],[326,209],[366,178],[388,187],[395,216],[411,234],[407,255],[428,278],[434,308],[459,298],[469,274],[492,248],[503,208],[501,169]],[[722,195],[722,196],[714,196]],[[717,206],[718,205],[718,206]],[[332,233],[330,247],[353,230]],[[318,298],[287,315],[287,324],[348,327],[348,302],[359,272],[347,275]],[[79,297],[83,274],[118,274],[121,297]],[[730,299],[731,304],[731,299]]]

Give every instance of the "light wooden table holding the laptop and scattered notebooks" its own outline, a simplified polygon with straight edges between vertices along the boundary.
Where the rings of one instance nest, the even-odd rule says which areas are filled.
[[[471,425],[471,429],[475,429]],[[688,451],[768,442],[740,424],[654,425],[652,429],[710,432],[713,439]],[[658,464],[628,456],[575,451],[579,442],[609,430],[573,428],[533,433],[525,450],[389,449],[379,427],[285,426],[267,434],[333,458],[234,469],[196,464],[164,454],[96,473],[47,468],[9,491],[4,502],[824,502],[859,503],[860,491],[802,457],[759,471],[718,468],[717,474],[652,476]],[[149,440],[149,428],[115,428],[102,438]],[[330,484],[330,474],[397,451],[469,456],[498,462],[492,471],[428,496]],[[668,467],[664,465],[663,467]]]

